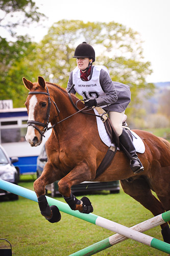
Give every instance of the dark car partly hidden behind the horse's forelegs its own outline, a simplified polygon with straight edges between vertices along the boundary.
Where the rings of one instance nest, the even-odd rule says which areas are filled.
[[[37,158],[37,178],[41,176],[44,165],[47,162],[47,156],[45,152],[45,145],[42,147],[41,153]],[[52,197],[60,195],[58,191],[58,182],[55,181],[50,185],[46,185],[46,193],[48,190],[51,191]],[[71,187],[72,193],[85,192],[90,193],[91,191],[101,191],[101,190],[109,190],[110,193],[119,193],[119,181],[110,181],[110,182],[90,182],[84,181],[78,185],[74,185]]]

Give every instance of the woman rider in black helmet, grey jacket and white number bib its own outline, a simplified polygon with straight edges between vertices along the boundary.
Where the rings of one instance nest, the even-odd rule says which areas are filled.
[[[92,62],[95,61],[95,52],[86,42],[78,45],[73,58],[77,60],[77,67],[69,75],[66,90],[68,91],[72,84],[75,84],[70,93],[77,92],[87,99],[85,105],[88,108],[101,106],[105,111],[109,110],[109,118],[119,141],[130,154],[127,156],[130,159],[131,169],[135,174],[141,172],[144,168],[138,159],[132,139],[122,127],[125,110],[131,100],[130,87],[113,82],[105,66],[92,66]]]

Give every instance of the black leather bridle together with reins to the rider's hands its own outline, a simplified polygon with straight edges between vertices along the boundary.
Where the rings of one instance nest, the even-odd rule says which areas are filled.
[[[56,122],[56,123],[53,124],[51,127],[48,127],[49,119],[50,119],[51,101],[54,103],[54,105],[55,105],[55,107],[56,107],[56,110],[57,110],[57,112],[58,112],[58,116],[59,116],[59,114],[60,114],[60,110],[58,109],[58,106],[57,106],[57,104],[55,103],[55,101],[53,101],[53,100],[50,98],[50,93],[49,93],[49,91],[48,91],[47,86],[46,86],[46,92],[29,92],[29,94],[44,94],[44,95],[47,95],[47,96],[48,96],[47,113],[46,113],[46,117],[45,117],[45,119],[44,119],[44,122],[41,123],[41,122],[34,121],[34,120],[28,120],[28,122],[27,122],[28,126],[33,126],[33,127],[41,134],[41,138],[42,138],[42,136],[45,137],[45,136],[44,136],[44,133],[46,133],[48,130],[52,129],[56,124],[59,124],[59,123],[63,122],[64,120],[68,119],[68,118],[71,117],[71,116],[74,116],[74,115],[78,114],[79,112],[82,112],[82,113],[84,113],[84,114],[93,115],[93,116],[98,116],[98,117],[100,117],[102,120],[104,120],[103,117],[100,116],[100,115],[95,115],[95,114],[87,113],[88,111],[90,111],[90,110],[93,109],[93,108],[90,108],[90,109],[88,109],[88,110],[86,110],[86,111],[84,111],[85,109],[87,109],[86,106],[85,106],[85,108],[83,108],[83,109],[81,109],[81,110],[78,109],[77,104],[78,104],[78,102],[81,101],[81,100],[78,100],[78,101],[76,102],[76,104],[75,104],[75,103],[73,102],[72,98],[71,98],[70,93],[68,93],[69,99],[70,99],[72,105],[74,105],[74,107],[75,107],[75,109],[77,110],[77,112],[74,113],[74,114],[72,114],[72,115],[70,115],[70,116],[68,116],[68,117],[66,117],[66,118],[64,118],[64,119],[62,119],[62,120],[59,121],[59,122]],[[83,101],[84,101],[84,100],[83,100]],[[39,126],[44,127],[43,131],[41,132],[40,129],[39,129],[36,125],[39,125]]]

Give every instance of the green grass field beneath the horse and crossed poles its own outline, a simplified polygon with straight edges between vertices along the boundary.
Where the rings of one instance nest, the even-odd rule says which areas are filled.
[[[35,176],[21,176],[19,185],[33,190]],[[126,195],[122,188],[119,194],[102,191],[86,195],[92,202],[94,214],[128,227],[152,218],[150,211]],[[81,199],[82,196],[77,196]],[[62,197],[58,200],[64,202]],[[16,256],[67,256],[93,243],[112,236],[112,232],[61,212],[61,221],[50,223],[40,214],[38,204],[19,197],[18,201],[4,199],[0,202],[0,238],[12,244]],[[149,236],[162,240],[160,227],[147,232]],[[0,253],[1,254],[1,253]],[[127,240],[95,255],[167,255],[147,245]]]

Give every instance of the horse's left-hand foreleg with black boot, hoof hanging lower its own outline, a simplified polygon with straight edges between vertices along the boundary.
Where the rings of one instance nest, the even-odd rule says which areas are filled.
[[[59,209],[55,205],[48,205],[45,197],[45,186],[60,179],[59,172],[52,170],[52,166],[48,163],[45,164],[41,176],[34,182],[34,190],[38,198],[38,205],[41,215],[50,222],[58,222],[61,219]]]

